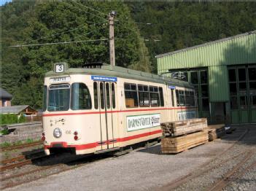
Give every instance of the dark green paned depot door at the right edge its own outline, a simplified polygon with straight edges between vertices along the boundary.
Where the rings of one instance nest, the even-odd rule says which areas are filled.
[[[256,122],[256,66],[228,69],[231,123]]]

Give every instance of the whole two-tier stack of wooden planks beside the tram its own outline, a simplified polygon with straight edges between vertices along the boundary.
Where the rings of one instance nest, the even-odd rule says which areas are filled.
[[[191,119],[176,122],[161,123],[163,139],[162,153],[171,154],[185,151],[208,142],[207,120]]]

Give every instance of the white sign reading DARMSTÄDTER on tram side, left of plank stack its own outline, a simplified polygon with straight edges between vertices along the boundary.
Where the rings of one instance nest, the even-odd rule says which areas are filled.
[[[143,114],[126,117],[127,131],[160,126],[160,114]]]

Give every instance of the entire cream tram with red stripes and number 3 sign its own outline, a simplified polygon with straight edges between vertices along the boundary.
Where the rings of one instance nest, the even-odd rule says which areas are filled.
[[[101,153],[162,136],[160,122],[197,117],[188,82],[118,66],[69,69],[44,78],[44,151]]]

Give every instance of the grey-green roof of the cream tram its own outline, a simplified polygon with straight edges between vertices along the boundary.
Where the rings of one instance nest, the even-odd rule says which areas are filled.
[[[180,79],[173,79],[170,77],[163,77],[157,74],[151,74],[144,71],[137,71],[133,69],[125,69],[120,66],[110,66],[108,64],[102,65],[100,68],[69,68],[62,73],[55,73],[48,71],[45,77],[58,77],[69,74],[88,74],[88,75],[101,75],[106,77],[121,77],[125,79],[138,79],[145,82],[158,82],[168,85],[176,85],[181,87],[193,87],[189,82]]]

